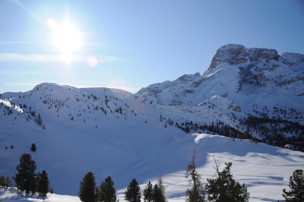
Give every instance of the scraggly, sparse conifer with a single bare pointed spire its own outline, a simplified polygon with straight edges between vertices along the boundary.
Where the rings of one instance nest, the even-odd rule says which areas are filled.
[[[203,202],[205,201],[205,190],[201,183],[201,175],[197,173],[195,170],[195,150],[193,152],[192,162],[188,164],[186,169],[185,177],[189,179],[189,184],[193,183],[193,187],[191,189],[186,190],[186,194],[188,198],[186,199],[187,202]]]

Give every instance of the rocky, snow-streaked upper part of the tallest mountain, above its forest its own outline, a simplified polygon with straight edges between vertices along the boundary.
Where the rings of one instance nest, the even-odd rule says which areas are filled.
[[[227,103],[238,104],[237,99],[248,94],[252,96],[251,100],[261,100],[276,90],[290,97],[299,98],[304,94],[303,54],[283,53],[280,56],[275,49],[228,44],[216,51],[203,75],[182,75],[175,81],[149,85],[137,94],[162,105],[192,106],[220,95],[224,96],[217,99],[225,98]],[[242,108],[243,111],[244,107],[239,105],[229,110]]]

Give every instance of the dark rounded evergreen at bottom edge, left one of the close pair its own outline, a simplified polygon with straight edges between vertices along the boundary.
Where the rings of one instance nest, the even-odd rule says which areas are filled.
[[[96,183],[95,177],[92,172],[88,172],[82,178],[82,182],[80,182],[79,188],[79,199],[83,202],[95,202],[96,195]]]

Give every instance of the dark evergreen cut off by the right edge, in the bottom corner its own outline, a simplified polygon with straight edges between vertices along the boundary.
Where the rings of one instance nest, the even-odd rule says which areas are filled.
[[[290,191],[283,189],[283,197],[286,202],[304,201],[304,173],[303,170],[295,170],[289,178]]]

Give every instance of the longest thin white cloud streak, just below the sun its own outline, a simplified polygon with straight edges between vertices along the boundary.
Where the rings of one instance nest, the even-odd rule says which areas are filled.
[[[72,63],[87,63],[90,56],[72,55]],[[96,55],[98,63],[105,63],[117,60],[118,57],[108,55]],[[0,61],[28,61],[28,62],[65,62],[66,55],[48,55],[48,54],[16,54],[16,53],[0,53]]]

